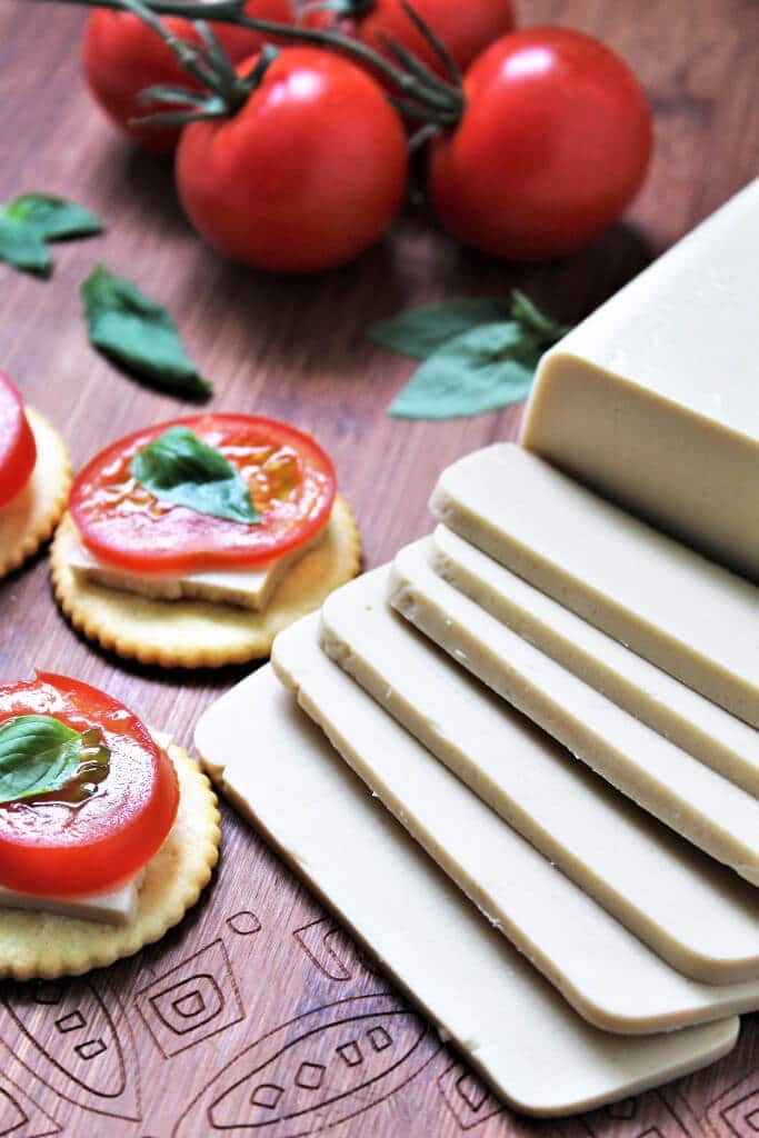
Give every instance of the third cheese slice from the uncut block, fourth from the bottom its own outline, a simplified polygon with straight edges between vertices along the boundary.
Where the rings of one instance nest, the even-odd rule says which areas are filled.
[[[432,570],[429,550],[430,542],[424,539],[398,553],[390,603],[624,794],[759,884],[759,800],[628,715],[448,585]]]

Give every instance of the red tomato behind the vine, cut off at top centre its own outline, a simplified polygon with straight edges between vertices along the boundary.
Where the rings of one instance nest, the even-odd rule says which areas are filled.
[[[311,27],[337,27],[390,61],[394,57],[385,41],[395,40],[438,75],[446,75],[437,51],[414,26],[399,0],[373,0],[369,7],[358,0],[356,8],[357,15],[337,18],[329,9],[306,10],[304,23]],[[514,26],[511,0],[414,0],[413,8],[462,71]]]

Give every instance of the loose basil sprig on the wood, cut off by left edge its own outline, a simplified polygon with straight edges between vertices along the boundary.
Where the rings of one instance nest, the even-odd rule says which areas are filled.
[[[100,220],[75,201],[49,193],[22,193],[0,206],[0,261],[48,277],[52,267],[48,241],[100,232]]]

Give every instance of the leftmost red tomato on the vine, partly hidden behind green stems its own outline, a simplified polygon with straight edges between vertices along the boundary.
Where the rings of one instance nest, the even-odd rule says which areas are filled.
[[[248,0],[245,7],[250,16],[280,24],[292,23],[290,0]],[[164,23],[181,39],[201,42],[189,19],[168,16]],[[257,51],[265,40],[257,32],[231,24],[214,24],[213,31],[232,63]],[[130,125],[132,118],[172,109],[166,104],[139,104],[140,91],[160,84],[200,90],[199,83],[182,69],[174,52],[152,28],[132,13],[96,9],[84,31],[82,65],[92,94],[121,130],[150,150],[164,154],[174,150],[180,137],[178,129]]]

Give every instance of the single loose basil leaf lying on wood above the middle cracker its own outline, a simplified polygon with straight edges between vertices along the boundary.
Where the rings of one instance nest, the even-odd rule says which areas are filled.
[[[184,354],[166,308],[104,265],[92,270],[81,291],[94,348],[157,387],[178,395],[211,394],[211,384]]]

